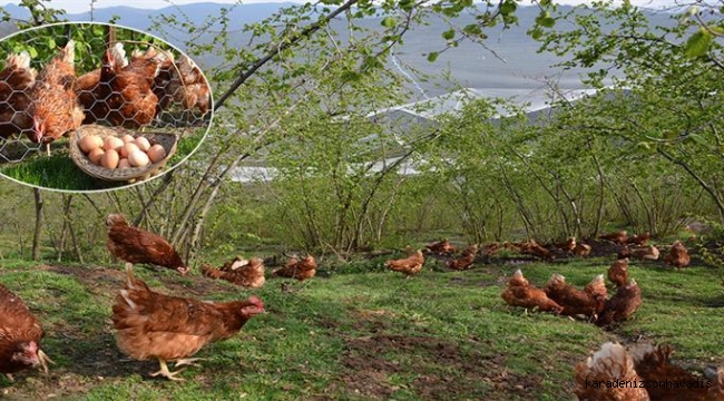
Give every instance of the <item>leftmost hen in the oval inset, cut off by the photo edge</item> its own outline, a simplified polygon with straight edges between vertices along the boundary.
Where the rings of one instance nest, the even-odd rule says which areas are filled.
[[[8,56],[0,71],[0,137],[8,138],[32,129],[32,118],[26,111],[37,76],[38,72],[30,68],[27,51]]]

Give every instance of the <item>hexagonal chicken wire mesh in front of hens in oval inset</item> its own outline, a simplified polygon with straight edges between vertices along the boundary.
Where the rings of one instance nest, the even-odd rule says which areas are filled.
[[[87,125],[179,140],[211,125],[211,87],[198,66],[141,31],[47,26],[2,39],[0,60],[0,165],[49,156],[51,144],[65,153]]]

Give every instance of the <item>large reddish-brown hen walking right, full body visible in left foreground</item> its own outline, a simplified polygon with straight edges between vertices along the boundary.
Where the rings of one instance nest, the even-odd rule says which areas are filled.
[[[123,353],[140,361],[158,360],[160,370],[151,376],[183,380],[176,378],[180,371],[168,370],[167,361],[175,361],[175,368],[195,365],[199,359],[189,356],[208,343],[234,336],[251,317],[264,313],[264,303],[253,295],[246,301],[211,303],[159,294],[135,278],[127,265],[112,312]]]

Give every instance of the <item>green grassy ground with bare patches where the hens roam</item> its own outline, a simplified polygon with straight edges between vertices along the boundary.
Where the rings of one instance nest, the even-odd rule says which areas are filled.
[[[369,266],[376,266],[370,262]],[[427,266],[427,265],[425,265]],[[606,261],[481,265],[466,272],[423,268],[418,276],[361,272],[361,262],[331,268],[304,290],[281,291],[278,278],[254,291],[268,314],[251,320],[197,356],[203,368],[172,383],[148,378],[155,362],[126,361],[115,346],[110,306],[119,268],[42,267],[7,261],[0,283],[42,321],[43,349],[56,360],[46,378],[17,375],[0,388],[10,398],[82,400],[218,399],[489,399],[571,398],[573,368],[605,341],[644,338],[668,343],[676,361],[695,369],[724,365],[722,276],[694,266],[674,272],[635,264],[644,304],[614,331],[564,316],[510,309],[500,299],[518,267],[537,285],[552,272],[581,287]],[[321,267],[325,267],[322,263]],[[247,290],[170,271],[136,267],[160,292],[233,300]],[[294,288],[299,284],[293,284]]]

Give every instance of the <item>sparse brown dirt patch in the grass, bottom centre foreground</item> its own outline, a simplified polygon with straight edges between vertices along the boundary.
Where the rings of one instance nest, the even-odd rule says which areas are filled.
[[[407,391],[422,399],[490,399],[490,393],[525,399],[542,382],[540,376],[511,374],[502,354],[485,355],[440,339],[373,335],[345,342],[345,371],[335,384],[365,398],[389,399]]]

